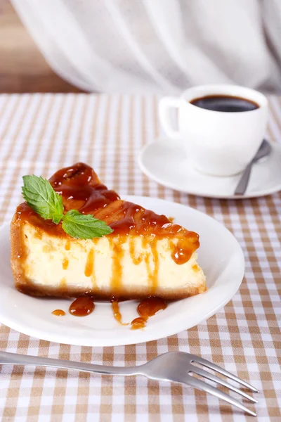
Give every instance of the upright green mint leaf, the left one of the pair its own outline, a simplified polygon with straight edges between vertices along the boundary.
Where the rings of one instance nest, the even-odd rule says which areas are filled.
[[[32,209],[44,219],[58,224],[63,218],[63,198],[43,177],[23,176],[22,196]]]

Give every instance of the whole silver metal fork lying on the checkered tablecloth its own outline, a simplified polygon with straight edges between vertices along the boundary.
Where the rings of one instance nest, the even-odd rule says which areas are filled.
[[[212,369],[213,371],[221,373],[223,376],[226,376],[231,380],[240,383],[249,390],[258,392],[256,388],[252,387],[245,381],[240,380],[240,378],[237,378],[237,376],[226,371],[220,366],[212,364],[206,359],[202,359],[202,357],[197,357],[195,354],[185,352],[168,352],[165,354],[160,354],[159,356],[155,357],[155,359],[152,359],[146,364],[124,367],[86,364],[84,362],[71,362],[62,359],[50,359],[47,357],[0,352],[0,364],[53,366],[55,368],[77,369],[78,371],[101,373],[103,375],[144,375],[148,378],[151,378],[152,380],[172,381],[174,383],[191,385],[194,388],[209,392],[211,395],[214,395],[230,404],[233,404],[233,406],[244,410],[247,414],[256,416],[254,411],[247,409],[247,407],[245,407],[242,402],[239,402],[237,399],[231,397],[225,392],[218,390],[218,388],[215,388],[212,385],[205,383],[198,378],[195,378],[194,376],[190,375],[190,373],[197,374],[203,378],[207,378],[210,381],[214,381],[215,383],[223,385],[224,387],[237,392],[237,394],[241,395],[245,399],[248,399],[250,402],[257,403],[256,399],[247,395],[246,392],[235,388],[233,385],[229,384],[222,378],[218,378],[213,373],[205,371],[204,369],[194,365],[194,363],[200,364],[200,366],[205,366],[209,369]]]

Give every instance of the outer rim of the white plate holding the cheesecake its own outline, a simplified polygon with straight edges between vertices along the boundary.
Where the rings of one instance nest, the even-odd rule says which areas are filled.
[[[216,314],[216,312],[218,312],[219,309],[222,309],[224,306],[226,306],[226,304],[228,302],[230,302],[230,300],[233,298],[233,296],[235,295],[235,293],[237,293],[237,290],[239,290],[240,285],[243,281],[244,278],[244,268],[245,268],[245,264],[244,264],[244,254],[242,251],[242,248],[240,246],[240,244],[238,243],[237,239],[235,238],[235,236],[231,233],[231,231],[229,229],[227,229],[226,226],[224,226],[223,224],[221,224],[221,222],[218,222],[218,220],[216,220],[214,217],[211,217],[209,215],[207,215],[206,213],[197,210],[196,208],[192,208],[188,205],[184,205],[182,203],[177,203],[177,202],[173,202],[170,200],[165,200],[162,198],[153,198],[151,196],[138,196],[138,195],[124,195],[122,196],[124,199],[126,200],[132,200],[134,202],[139,202],[140,200],[142,200],[143,198],[145,200],[157,200],[157,202],[160,203],[169,203],[170,205],[176,205],[179,207],[185,207],[188,208],[188,210],[191,210],[191,212],[195,212],[195,214],[200,214],[203,215],[204,218],[207,218],[209,220],[214,220],[216,222],[216,224],[219,224],[224,230],[226,230],[228,232],[228,236],[231,236],[232,240],[235,242],[236,246],[237,246],[237,251],[239,250],[239,254],[240,254],[240,264],[241,264],[241,268],[240,268],[240,274],[239,277],[237,276],[237,282],[233,283],[233,288],[229,288],[229,294],[227,295],[226,298],[224,298],[221,302],[219,302],[218,305],[216,305],[216,307],[214,307],[214,309],[212,309],[210,312],[208,312],[207,314],[205,314],[202,318],[202,316],[199,316],[197,318],[195,318],[195,322],[192,323],[191,326],[188,326],[188,324],[178,324],[177,330],[175,331],[174,325],[171,326],[166,326],[164,329],[164,334],[162,332],[162,330],[157,331],[157,333],[155,333],[155,331],[143,331],[143,333],[145,333],[144,336],[141,336],[141,338],[138,338],[139,335],[138,333],[136,333],[136,331],[132,332],[131,334],[131,340],[128,337],[128,339],[124,340],[122,338],[122,336],[120,336],[119,338],[114,338],[113,341],[111,338],[100,338],[99,340],[96,340],[96,338],[85,338],[83,336],[81,336],[81,338],[79,337],[75,337],[70,341],[70,338],[68,335],[63,335],[63,333],[57,334],[57,333],[52,333],[50,335],[50,333],[46,333],[43,332],[42,334],[40,333],[39,328],[34,328],[34,327],[27,327],[27,329],[25,329],[25,326],[22,328],[22,326],[14,320],[11,320],[9,318],[6,318],[6,316],[4,316],[3,314],[1,314],[1,309],[0,309],[0,322],[1,324],[4,324],[12,329],[14,329],[15,331],[18,331],[20,333],[23,333],[25,335],[29,335],[31,337],[34,338],[39,338],[41,340],[46,340],[52,343],[60,343],[60,344],[67,344],[67,345],[79,345],[79,346],[90,346],[90,347],[114,347],[114,346],[120,346],[120,345],[133,345],[133,344],[141,344],[141,343],[147,343],[148,341],[152,341],[152,340],[159,340],[160,338],[167,338],[170,335],[175,335],[177,333],[180,333],[181,331],[185,331],[188,330],[194,326],[197,326],[198,324],[201,324],[202,322],[206,321],[207,319],[209,319],[211,316],[213,316],[214,314]],[[6,222],[5,224],[0,226],[0,232],[4,229],[8,229],[8,226],[10,225],[9,222]],[[239,281],[238,281],[239,278]],[[0,279],[0,289],[1,289],[1,279]],[[202,293],[204,294],[204,293]],[[183,299],[186,300],[186,299]],[[184,319],[183,319],[184,321]],[[188,328],[187,328],[188,326]],[[134,333],[136,333],[136,335],[134,335]],[[145,337],[145,338],[142,338]],[[123,340],[121,340],[121,338]]]

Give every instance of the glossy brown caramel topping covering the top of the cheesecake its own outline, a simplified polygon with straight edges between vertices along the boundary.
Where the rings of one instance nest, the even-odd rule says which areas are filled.
[[[140,205],[120,200],[115,191],[110,191],[105,185],[100,184],[96,173],[86,164],[79,162],[58,170],[49,180],[55,191],[63,196],[65,210],[75,209],[103,219],[114,229],[113,236],[136,234],[152,235],[157,238],[176,237],[184,239],[185,243],[190,243],[192,232],[178,224],[172,224],[164,215],[157,215]],[[26,203],[19,205],[17,212],[19,219],[26,219],[49,234],[67,237],[61,224],[41,219]],[[68,249],[69,246],[66,244],[65,248]],[[197,245],[192,243],[192,248],[198,247],[199,243]]]

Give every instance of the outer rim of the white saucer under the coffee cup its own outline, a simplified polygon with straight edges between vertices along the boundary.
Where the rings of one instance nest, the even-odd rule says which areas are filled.
[[[272,195],[273,193],[279,192],[281,190],[281,181],[280,181],[280,184],[278,185],[278,187],[267,189],[267,190],[263,189],[263,191],[259,191],[258,193],[245,193],[244,195],[228,195],[228,196],[226,196],[226,195],[220,195],[218,193],[218,195],[214,196],[214,195],[209,195],[208,193],[198,193],[198,191],[192,190],[192,188],[191,189],[189,189],[189,188],[188,189],[178,188],[178,186],[176,186],[174,183],[170,183],[169,181],[167,181],[167,182],[163,181],[159,177],[155,176],[155,174],[150,172],[150,170],[148,170],[148,168],[145,167],[145,165],[143,164],[143,155],[147,152],[148,148],[150,148],[150,146],[152,146],[153,143],[156,143],[156,142],[159,142],[159,141],[162,141],[162,140],[169,140],[169,138],[167,136],[157,136],[153,141],[146,143],[141,148],[141,151],[138,153],[138,158],[137,158],[138,166],[140,167],[141,171],[147,177],[156,181],[161,186],[165,186],[166,188],[173,189],[174,191],[188,193],[189,195],[201,196],[202,198],[235,199],[235,200],[260,198],[261,196]],[[279,149],[280,153],[281,153],[281,145],[279,145],[279,143],[274,142],[274,141],[268,141],[268,142],[270,143],[271,146],[273,146],[273,151],[275,151],[275,149]],[[256,163],[256,164],[259,165],[259,163]]]

